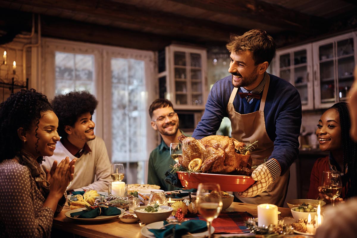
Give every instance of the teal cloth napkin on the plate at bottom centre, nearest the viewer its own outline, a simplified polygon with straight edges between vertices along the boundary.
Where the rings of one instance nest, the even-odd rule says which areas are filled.
[[[164,221],[164,225],[166,225],[167,223],[168,223],[167,221]],[[149,229],[150,232],[154,233],[156,238],[164,238],[172,233],[174,233],[175,238],[179,238],[182,237],[187,232],[197,233],[206,230],[207,230],[207,223],[206,221],[202,221],[202,220],[190,220],[190,221],[182,222],[181,225],[172,224],[167,227],[164,227],[163,229]]]

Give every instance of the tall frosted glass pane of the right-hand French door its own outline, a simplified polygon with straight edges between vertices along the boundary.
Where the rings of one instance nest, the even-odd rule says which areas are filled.
[[[112,161],[145,161],[145,64],[133,59],[111,59]]]

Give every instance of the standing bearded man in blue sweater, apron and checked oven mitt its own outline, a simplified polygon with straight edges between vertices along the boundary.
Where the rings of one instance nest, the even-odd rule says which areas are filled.
[[[265,31],[232,35],[226,47],[232,75],[213,85],[192,137],[215,135],[222,118],[230,118],[232,137],[246,144],[258,141],[252,151],[253,165],[259,164],[252,173],[257,182],[235,196],[245,203],[283,206],[289,168],[298,156],[300,95],[289,82],[266,72],[276,45]]]

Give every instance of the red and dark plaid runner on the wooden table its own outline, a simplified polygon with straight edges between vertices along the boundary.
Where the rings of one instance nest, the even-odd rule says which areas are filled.
[[[200,214],[195,215],[187,218],[205,220]],[[249,233],[245,225],[248,218],[253,218],[248,212],[223,212],[213,220],[212,226],[215,228],[215,233]]]

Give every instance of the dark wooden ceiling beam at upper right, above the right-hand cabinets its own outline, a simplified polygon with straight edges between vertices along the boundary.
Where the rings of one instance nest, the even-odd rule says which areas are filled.
[[[244,17],[285,30],[313,34],[327,30],[326,19],[286,9],[280,5],[260,0],[170,0],[190,7]]]

